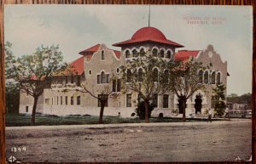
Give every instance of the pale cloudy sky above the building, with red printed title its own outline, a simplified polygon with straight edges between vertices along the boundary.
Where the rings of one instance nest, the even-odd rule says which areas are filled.
[[[59,44],[71,62],[97,43],[120,50],[112,44],[148,26],[148,11],[148,5],[5,5],[4,39],[17,56]],[[252,7],[151,5],[150,26],[185,46],[177,50],[212,44],[228,62],[228,94],[252,93]]]

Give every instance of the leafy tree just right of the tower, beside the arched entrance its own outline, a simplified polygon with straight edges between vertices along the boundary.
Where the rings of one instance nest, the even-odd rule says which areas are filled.
[[[169,84],[171,91],[177,95],[178,107],[183,111],[183,122],[186,121],[186,103],[197,90],[204,88],[199,84],[200,77],[198,71],[206,67],[200,62],[189,60],[187,62],[177,62],[169,66]]]

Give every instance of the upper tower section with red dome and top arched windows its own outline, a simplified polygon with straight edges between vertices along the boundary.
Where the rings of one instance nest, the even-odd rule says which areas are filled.
[[[174,59],[175,49],[183,48],[183,45],[168,40],[154,27],[143,27],[136,31],[131,39],[114,43],[113,46],[121,48],[125,59],[137,57],[144,52],[161,58]]]

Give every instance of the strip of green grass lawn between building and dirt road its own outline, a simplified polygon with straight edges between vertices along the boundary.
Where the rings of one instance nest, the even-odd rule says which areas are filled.
[[[6,116],[7,127],[30,126],[31,116],[8,115]],[[97,124],[98,116],[36,116],[36,125],[83,125]],[[139,118],[122,118],[119,116],[103,116],[105,124],[110,123],[140,123],[145,122]],[[182,122],[179,118],[150,118],[149,122]],[[188,120],[187,122],[198,122]]]

